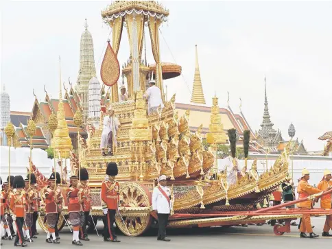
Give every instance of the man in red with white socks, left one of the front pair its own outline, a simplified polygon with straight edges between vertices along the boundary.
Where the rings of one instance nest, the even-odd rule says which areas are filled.
[[[49,227],[47,231],[47,243],[60,244],[59,239],[56,238],[56,219],[58,217],[58,203],[60,200],[58,199],[58,195],[56,189],[56,178],[54,176],[49,177],[49,185],[45,189],[45,211],[46,211],[46,223]],[[51,235],[53,237],[53,241],[51,240]]]

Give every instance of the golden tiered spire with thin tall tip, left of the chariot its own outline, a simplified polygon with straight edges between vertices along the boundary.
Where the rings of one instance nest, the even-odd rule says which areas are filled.
[[[60,95],[58,112],[56,117],[58,119],[58,127],[54,131],[54,156],[61,158],[69,158],[69,154],[73,146],[71,145],[71,138],[69,137],[69,130],[67,121],[64,119],[64,108],[62,102],[62,90],[61,90],[61,62],[59,57],[59,70],[60,70]]]

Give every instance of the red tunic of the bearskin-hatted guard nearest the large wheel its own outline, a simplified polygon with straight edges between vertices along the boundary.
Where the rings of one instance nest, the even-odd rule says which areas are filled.
[[[107,204],[107,209],[117,209],[119,198],[119,182],[105,180],[102,183],[102,202]]]

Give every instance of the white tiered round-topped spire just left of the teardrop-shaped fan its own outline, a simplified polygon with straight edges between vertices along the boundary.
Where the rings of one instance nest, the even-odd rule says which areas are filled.
[[[88,82],[88,123],[99,129],[101,86],[97,77],[93,76]]]

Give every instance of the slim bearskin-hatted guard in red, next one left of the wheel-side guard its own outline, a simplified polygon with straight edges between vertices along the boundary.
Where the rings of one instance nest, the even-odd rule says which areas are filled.
[[[84,220],[82,222],[82,226],[80,229],[80,239],[89,241],[88,233],[86,232],[86,226],[88,224],[88,215],[90,215],[91,211],[91,191],[90,187],[88,187],[88,171],[85,168],[80,169],[80,174],[78,178],[81,180],[80,182],[80,190],[81,190],[81,198],[83,200],[83,214]]]

